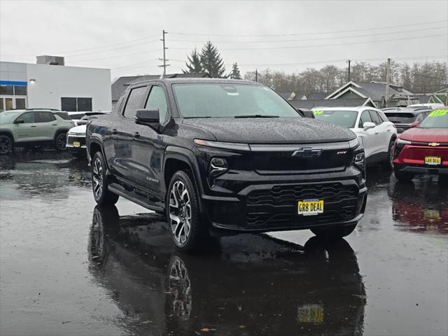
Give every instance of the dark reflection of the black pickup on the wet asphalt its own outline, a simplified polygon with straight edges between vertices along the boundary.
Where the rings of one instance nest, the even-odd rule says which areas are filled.
[[[365,289],[345,240],[239,235],[176,251],[162,216],[96,207],[90,272],[130,335],[362,335]]]

